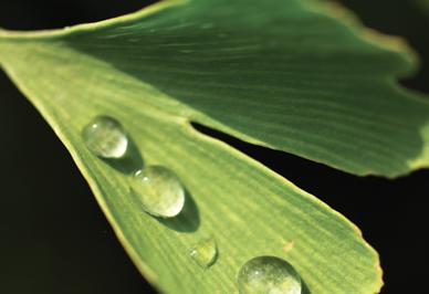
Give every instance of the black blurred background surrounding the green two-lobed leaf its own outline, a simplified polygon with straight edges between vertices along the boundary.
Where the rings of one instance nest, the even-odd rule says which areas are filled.
[[[0,27],[62,28],[133,12],[150,2],[1,0]],[[402,83],[429,92],[429,13],[406,0],[342,2],[368,27],[410,42],[422,69]],[[155,293],[121,248],[65,148],[1,71],[0,97],[0,293]],[[355,222],[380,253],[383,293],[428,293],[428,170],[391,181],[358,178],[199,129],[262,161]]]

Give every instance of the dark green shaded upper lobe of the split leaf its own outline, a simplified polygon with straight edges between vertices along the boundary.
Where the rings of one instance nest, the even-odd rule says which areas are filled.
[[[248,141],[357,175],[428,166],[428,103],[396,83],[414,55],[301,2],[196,0],[51,38],[163,92],[157,107]]]

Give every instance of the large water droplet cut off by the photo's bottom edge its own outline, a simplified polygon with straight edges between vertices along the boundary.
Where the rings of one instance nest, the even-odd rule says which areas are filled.
[[[240,294],[301,294],[301,277],[293,266],[279,258],[260,256],[240,270]]]

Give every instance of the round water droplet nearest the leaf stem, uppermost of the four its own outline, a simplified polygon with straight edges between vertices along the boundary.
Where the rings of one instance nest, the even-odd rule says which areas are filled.
[[[103,158],[121,158],[128,147],[127,135],[115,118],[97,116],[82,130],[86,147]]]

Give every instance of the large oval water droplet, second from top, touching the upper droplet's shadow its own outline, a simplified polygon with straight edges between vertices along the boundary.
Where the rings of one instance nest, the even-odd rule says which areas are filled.
[[[133,177],[132,190],[145,211],[155,217],[176,217],[185,206],[185,189],[180,180],[163,166],[138,170]]]

